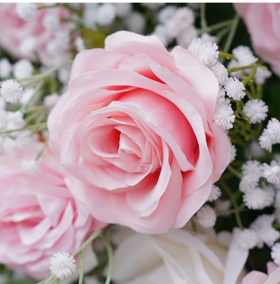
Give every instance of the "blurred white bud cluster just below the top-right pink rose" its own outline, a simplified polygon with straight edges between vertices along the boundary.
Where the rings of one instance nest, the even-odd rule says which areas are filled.
[[[243,66],[250,66],[258,61],[253,55],[253,52],[248,46],[237,46],[235,49],[232,49],[232,54],[236,58],[231,60],[227,65],[227,68],[234,68],[234,67],[243,67]],[[243,76],[247,76],[252,72],[252,68],[239,70],[235,72],[231,72],[230,76],[236,77],[237,79],[241,80]],[[256,84],[264,84],[267,78],[270,78],[272,73],[267,70],[262,70],[261,67],[257,67],[256,74],[254,76],[254,80]]]

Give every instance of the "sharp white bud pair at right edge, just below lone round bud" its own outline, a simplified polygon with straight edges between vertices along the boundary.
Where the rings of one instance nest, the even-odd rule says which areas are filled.
[[[272,145],[277,143],[280,143],[280,122],[275,117],[272,117],[259,137],[259,144],[260,148],[271,153]]]

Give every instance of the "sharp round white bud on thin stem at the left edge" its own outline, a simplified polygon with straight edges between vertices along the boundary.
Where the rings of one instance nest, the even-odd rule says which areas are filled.
[[[22,98],[23,89],[20,83],[9,79],[1,84],[0,94],[6,102],[17,103]]]

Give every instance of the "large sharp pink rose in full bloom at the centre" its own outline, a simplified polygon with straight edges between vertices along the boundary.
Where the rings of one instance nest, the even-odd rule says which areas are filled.
[[[116,32],[79,53],[48,117],[67,184],[104,222],[142,233],[180,228],[229,163],[212,123],[218,82],[192,52]]]

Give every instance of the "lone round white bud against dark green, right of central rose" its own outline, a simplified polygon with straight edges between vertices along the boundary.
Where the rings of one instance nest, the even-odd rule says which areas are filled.
[[[264,101],[252,99],[245,103],[242,111],[250,119],[250,123],[260,123],[267,117],[268,106]]]

